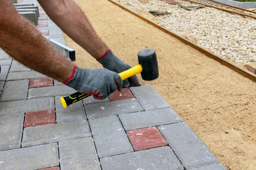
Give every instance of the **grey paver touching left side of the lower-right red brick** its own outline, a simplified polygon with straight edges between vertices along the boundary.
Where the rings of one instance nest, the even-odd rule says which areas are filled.
[[[134,151],[117,116],[89,120],[99,158]]]

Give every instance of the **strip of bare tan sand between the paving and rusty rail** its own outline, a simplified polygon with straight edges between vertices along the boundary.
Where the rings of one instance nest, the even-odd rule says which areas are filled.
[[[256,83],[107,0],[75,0],[114,54],[137,65],[154,48],[160,77],[153,85],[228,170],[256,169]],[[86,37],[81,37],[86,38]],[[102,67],[65,35],[82,68]]]

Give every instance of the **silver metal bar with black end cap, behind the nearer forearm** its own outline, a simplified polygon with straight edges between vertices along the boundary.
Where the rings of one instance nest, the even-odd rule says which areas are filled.
[[[44,35],[43,35],[44,36]],[[76,51],[69,48],[66,45],[61,44],[58,41],[52,40],[51,38],[44,36],[60,54],[71,61],[76,61]]]

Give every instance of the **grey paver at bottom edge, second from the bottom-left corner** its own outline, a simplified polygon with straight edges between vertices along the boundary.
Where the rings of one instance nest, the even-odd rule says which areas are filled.
[[[93,138],[59,142],[62,170],[101,170]]]

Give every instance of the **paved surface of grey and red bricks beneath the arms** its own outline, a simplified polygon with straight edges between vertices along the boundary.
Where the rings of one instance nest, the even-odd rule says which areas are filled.
[[[64,43],[38,7],[40,30]],[[0,65],[1,170],[226,170],[152,86],[63,109],[73,89],[3,50]]]

